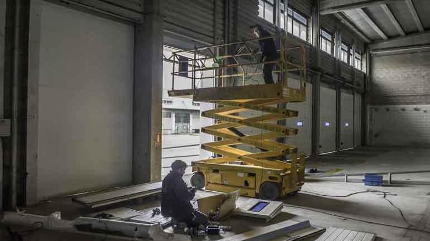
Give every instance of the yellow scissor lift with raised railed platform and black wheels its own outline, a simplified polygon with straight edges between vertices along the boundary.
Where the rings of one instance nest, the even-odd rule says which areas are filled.
[[[201,114],[215,119],[215,124],[203,127],[201,132],[214,135],[217,141],[202,144],[201,148],[216,153],[217,157],[192,163],[194,174],[191,181],[194,186],[221,192],[238,189],[242,196],[278,199],[300,190],[304,183],[304,155],[299,154],[294,146],[275,141],[282,137],[288,140],[288,136],[296,135],[298,130],[274,121],[298,116],[298,111],[282,108],[282,104],[306,100],[305,50],[302,44],[291,46],[285,35],[265,38],[273,38],[280,46],[279,60],[265,62],[277,64],[278,68],[273,71],[278,73],[276,84],[245,85],[246,78],[261,76],[258,68],[252,70],[253,66],[262,64],[256,60],[260,53],[251,47],[262,38],[172,53],[172,90],[168,92],[169,96],[189,97],[196,102],[215,104],[215,109]],[[224,54],[216,54],[220,50]],[[296,55],[290,55],[294,52]],[[175,64],[184,61],[179,56],[188,58],[189,70],[175,72]],[[207,60],[215,64],[206,67]],[[234,73],[233,68],[240,73]],[[299,88],[288,87],[288,73],[291,71],[300,76]],[[208,72],[215,74],[202,74]],[[175,76],[184,75],[192,80],[191,89],[175,90]],[[234,78],[241,78],[242,84],[238,86],[236,81],[231,81]],[[198,79],[200,83],[205,79],[215,79],[216,87],[201,88],[200,84],[196,87]],[[231,82],[233,86],[229,86]],[[242,115],[246,111],[259,115]],[[259,131],[248,135],[234,131],[244,127]],[[258,148],[258,151],[240,148],[243,144]],[[291,158],[289,161],[279,160],[286,155]]]

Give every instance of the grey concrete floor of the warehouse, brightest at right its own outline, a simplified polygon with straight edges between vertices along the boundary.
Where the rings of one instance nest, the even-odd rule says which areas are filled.
[[[343,169],[341,172],[348,173],[424,170],[430,169],[429,157],[430,148],[362,147],[309,160],[307,167],[318,168],[320,170],[340,168]],[[430,182],[430,174],[397,175],[393,176],[393,179],[398,181],[417,180]],[[303,185],[301,192],[290,195],[285,199],[284,203],[286,207],[284,207],[283,211],[288,214],[284,214],[280,219],[293,219],[297,221],[308,219],[313,225],[317,226],[327,228],[335,226],[372,232],[377,234],[378,241],[430,240],[429,185],[365,186],[363,183],[344,183],[341,182],[342,180],[343,178],[308,179],[306,184]],[[376,189],[396,194],[395,196],[387,196],[386,199],[401,209],[407,222],[404,221],[396,207],[375,193],[362,193],[343,198],[315,194],[338,196],[366,191],[366,189]],[[145,200],[143,204],[129,202],[117,206],[121,205],[127,205],[133,209],[140,210],[145,207],[157,206],[159,205],[159,201],[151,199]],[[112,208],[112,206],[109,208]],[[61,210],[64,219],[72,219],[102,209],[91,210],[71,203],[70,199],[60,199],[50,203],[26,207],[26,210],[27,213],[43,215]],[[255,223],[255,221],[247,219],[233,219],[229,222],[237,225],[236,232],[245,231],[241,229],[243,227],[249,228],[250,223]],[[382,223],[387,225],[383,225]],[[402,227],[426,230],[427,233],[407,230]],[[24,240],[31,241],[77,239],[98,240],[77,234],[51,231],[36,231],[24,236]],[[316,237],[308,240],[315,239]],[[2,240],[1,234],[0,240]],[[100,240],[109,239],[101,237]]]

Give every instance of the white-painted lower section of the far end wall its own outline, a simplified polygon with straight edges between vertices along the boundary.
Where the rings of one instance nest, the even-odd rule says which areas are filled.
[[[430,105],[371,106],[370,115],[372,145],[430,145]]]

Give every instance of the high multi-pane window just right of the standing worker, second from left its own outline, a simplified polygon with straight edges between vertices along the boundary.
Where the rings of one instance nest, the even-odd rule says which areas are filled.
[[[285,29],[284,26],[284,18],[285,14],[283,11],[283,0],[280,3],[280,12],[281,12],[281,24],[280,28]],[[307,18],[301,15],[296,10],[288,8],[287,10],[287,32],[293,34],[294,36],[300,37],[301,39],[307,41]]]

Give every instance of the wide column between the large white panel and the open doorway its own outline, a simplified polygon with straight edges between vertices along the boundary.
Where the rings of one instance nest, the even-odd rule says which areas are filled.
[[[162,0],[141,0],[144,21],[135,27],[133,100],[133,183],[161,179],[163,96]]]

